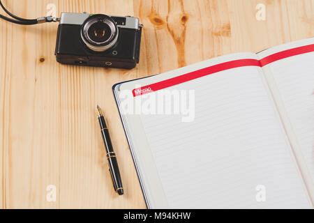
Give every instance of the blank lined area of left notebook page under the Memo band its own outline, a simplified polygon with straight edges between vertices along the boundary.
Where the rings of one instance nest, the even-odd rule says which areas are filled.
[[[311,208],[261,75],[247,66],[170,86],[194,91],[190,122],[140,115],[170,208]]]

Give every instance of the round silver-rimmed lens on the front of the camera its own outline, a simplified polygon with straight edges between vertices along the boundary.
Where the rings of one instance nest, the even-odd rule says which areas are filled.
[[[96,52],[110,49],[118,40],[117,24],[107,15],[91,15],[84,21],[81,37],[85,45]]]

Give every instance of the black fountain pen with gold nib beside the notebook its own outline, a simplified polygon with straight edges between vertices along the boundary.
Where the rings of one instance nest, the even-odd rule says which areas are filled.
[[[101,134],[103,136],[103,142],[105,144],[106,149],[106,157],[109,165],[109,171],[112,178],[112,183],[114,186],[114,191],[117,192],[119,195],[124,194],[124,188],[122,187],[122,180],[120,176],[120,171],[117,162],[117,155],[114,153],[112,143],[110,140],[109,131],[107,128],[107,124],[105,122],[105,118],[103,117],[103,113],[101,112],[100,107],[97,105],[97,112],[98,112],[98,121],[100,124]]]

